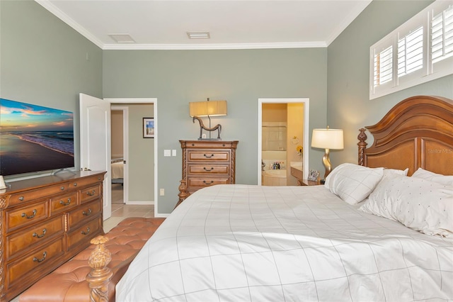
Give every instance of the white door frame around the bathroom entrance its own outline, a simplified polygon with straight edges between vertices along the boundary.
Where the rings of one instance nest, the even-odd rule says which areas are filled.
[[[263,147],[263,104],[304,104],[304,140],[302,147],[304,150],[309,150],[309,116],[310,116],[310,99],[309,98],[275,98],[275,99],[258,99],[258,186],[261,185],[261,150]],[[304,179],[309,175],[309,152],[304,152]]]

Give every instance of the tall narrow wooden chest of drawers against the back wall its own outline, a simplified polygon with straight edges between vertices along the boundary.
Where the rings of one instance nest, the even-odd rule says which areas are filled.
[[[180,140],[183,179],[178,203],[193,192],[214,184],[234,184],[237,140]]]

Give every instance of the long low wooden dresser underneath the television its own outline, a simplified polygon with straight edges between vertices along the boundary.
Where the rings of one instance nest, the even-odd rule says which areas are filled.
[[[103,233],[104,174],[65,172],[13,181],[0,190],[0,301],[11,300]]]

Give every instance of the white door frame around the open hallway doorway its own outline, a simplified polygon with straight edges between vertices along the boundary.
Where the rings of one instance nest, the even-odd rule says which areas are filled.
[[[159,125],[159,118],[157,118],[157,98],[105,98],[105,101],[108,101],[111,105],[115,106],[115,104],[153,104],[153,116],[154,116],[154,216],[159,213],[159,199],[157,194],[159,191],[156,188],[158,179],[157,179],[157,143],[158,143],[158,125]],[[157,217],[157,216],[156,216]]]

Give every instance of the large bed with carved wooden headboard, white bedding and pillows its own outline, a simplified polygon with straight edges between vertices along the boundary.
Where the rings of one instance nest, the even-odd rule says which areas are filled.
[[[367,129],[359,164],[338,165],[323,186],[190,195],[116,301],[451,301],[453,101],[415,96]]]

